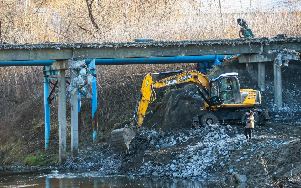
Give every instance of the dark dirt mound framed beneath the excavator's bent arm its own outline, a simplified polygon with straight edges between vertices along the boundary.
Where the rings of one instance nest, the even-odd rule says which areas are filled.
[[[159,125],[163,130],[187,128],[191,125],[191,118],[201,112],[200,107],[203,107],[203,104],[203,99],[194,84],[169,90],[153,110],[154,113],[145,116],[143,126],[151,128],[153,125],[155,127]]]

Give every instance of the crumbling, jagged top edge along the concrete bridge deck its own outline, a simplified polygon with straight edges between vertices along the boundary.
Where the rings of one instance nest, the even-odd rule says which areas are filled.
[[[215,39],[215,40],[180,40],[180,41],[153,41],[153,42],[101,42],[101,43],[38,43],[38,44],[0,44],[0,50],[7,49],[56,49],[71,48],[119,48],[119,47],[165,47],[165,46],[186,46],[186,45],[218,45],[218,44],[250,44],[250,43],[272,43],[272,42],[301,42],[301,37],[277,37],[277,38],[244,38],[244,39]]]

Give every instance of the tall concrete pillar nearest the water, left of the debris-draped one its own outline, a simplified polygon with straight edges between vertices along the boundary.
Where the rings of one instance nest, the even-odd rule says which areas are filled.
[[[67,126],[66,126],[66,84],[65,70],[57,70],[58,80],[58,118],[59,118],[59,164],[67,159]]]

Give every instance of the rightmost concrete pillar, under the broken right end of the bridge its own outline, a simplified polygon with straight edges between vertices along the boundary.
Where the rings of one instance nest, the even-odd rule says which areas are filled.
[[[274,98],[277,107],[282,108],[282,80],[281,67],[274,63]]]

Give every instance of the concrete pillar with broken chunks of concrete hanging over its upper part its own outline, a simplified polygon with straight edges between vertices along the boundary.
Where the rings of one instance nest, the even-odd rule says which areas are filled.
[[[71,73],[71,80],[77,78],[76,71]],[[70,93],[70,121],[71,121],[71,157],[78,157],[78,91]]]

